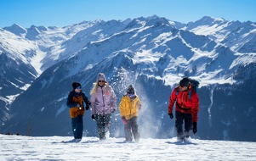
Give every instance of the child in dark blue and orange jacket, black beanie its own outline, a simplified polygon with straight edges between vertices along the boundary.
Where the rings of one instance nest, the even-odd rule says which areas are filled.
[[[85,113],[85,109],[89,109],[90,103],[88,102],[88,97],[86,97],[82,92],[82,86],[80,83],[73,82],[72,87],[73,90],[67,97],[66,106],[70,108],[71,125],[74,138],[76,140],[81,140],[83,130],[82,116]]]

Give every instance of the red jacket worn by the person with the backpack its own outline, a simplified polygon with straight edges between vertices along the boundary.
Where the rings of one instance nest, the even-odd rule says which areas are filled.
[[[168,105],[168,114],[173,113],[174,103],[176,101],[176,93],[177,89],[179,89],[179,86],[174,88],[174,91],[172,92],[170,99],[169,99],[169,105]],[[198,116],[197,113],[199,111],[199,97],[195,91],[191,92],[191,99],[189,98],[189,91],[180,92],[177,95],[177,102],[175,111],[178,111],[179,113],[184,114],[192,114],[193,122],[197,122]]]

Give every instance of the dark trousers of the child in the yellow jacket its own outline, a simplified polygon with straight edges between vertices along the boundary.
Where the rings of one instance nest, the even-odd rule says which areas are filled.
[[[137,124],[137,119],[138,117],[128,119],[128,123],[124,125],[125,140],[127,142],[133,141],[133,135],[134,140],[139,142],[139,125]]]

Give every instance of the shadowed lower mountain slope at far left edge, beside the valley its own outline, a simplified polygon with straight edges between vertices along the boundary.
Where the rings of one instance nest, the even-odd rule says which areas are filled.
[[[0,123],[9,119],[9,104],[35,79],[37,72],[20,60],[14,61],[6,53],[0,53]]]

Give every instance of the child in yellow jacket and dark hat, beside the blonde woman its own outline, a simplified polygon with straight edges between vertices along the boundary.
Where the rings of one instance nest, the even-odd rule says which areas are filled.
[[[135,94],[134,86],[130,85],[128,86],[127,94],[122,96],[121,103],[119,104],[126,142],[132,142],[133,136],[135,142],[139,142],[139,125],[137,119],[140,108],[141,103],[139,97]]]

